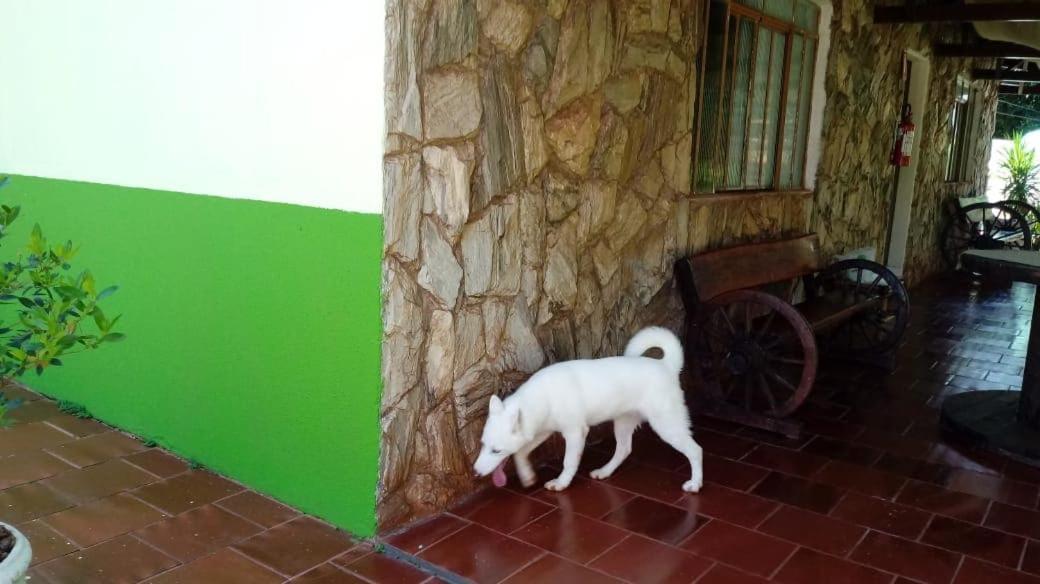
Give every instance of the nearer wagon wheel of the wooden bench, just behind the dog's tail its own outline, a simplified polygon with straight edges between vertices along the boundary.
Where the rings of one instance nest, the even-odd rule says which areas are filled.
[[[812,327],[794,307],[758,290],[735,290],[705,306],[699,359],[712,397],[782,418],[805,401],[816,377]]]

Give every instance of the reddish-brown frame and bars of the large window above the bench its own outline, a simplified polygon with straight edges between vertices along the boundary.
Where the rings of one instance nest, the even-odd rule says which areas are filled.
[[[754,25],[754,34],[753,34],[752,41],[751,41],[751,43],[752,43],[752,52],[751,52],[751,55],[750,55],[750,63],[749,63],[749,72],[748,72],[749,82],[750,83],[753,84],[754,83],[754,79],[755,79],[755,70],[757,69],[757,64],[758,64],[758,38],[759,38],[758,35],[759,35],[760,29],[762,27],[769,29],[770,31],[772,31],[775,34],[782,34],[783,35],[783,38],[784,38],[783,52],[784,52],[784,54],[783,54],[783,64],[782,64],[781,78],[780,78],[780,83],[781,83],[781,86],[780,86],[780,101],[779,101],[779,106],[778,106],[778,110],[777,110],[776,126],[775,126],[775,130],[774,130],[776,134],[775,134],[775,136],[773,138],[775,140],[775,143],[773,144],[773,151],[774,152],[773,152],[772,177],[770,177],[768,185],[764,185],[764,186],[748,186],[748,182],[749,181],[745,178],[745,175],[746,175],[746,171],[747,171],[747,158],[748,158],[747,154],[748,154],[748,150],[749,150],[748,143],[749,143],[749,138],[750,138],[750,133],[751,133],[751,126],[752,126],[752,124],[750,122],[750,117],[751,117],[751,112],[752,112],[753,95],[749,94],[749,96],[748,96],[748,103],[747,103],[747,106],[746,106],[746,109],[747,109],[746,115],[748,116],[749,120],[744,125],[744,132],[745,132],[745,141],[744,141],[744,144],[745,145],[742,149],[742,153],[740,153],[740,157],[742,157],[742,164],[740,164],[742,170],[740,170],[740,172],[742,172],[742,179],[744,179],[744,180],[739,181],[742,183],[739,186],[735,186],[735,187],[720,186],[720,185],[725,185],[725,184],[729,183],[728,179],[730,178],[730,171],[731,171],[731,164],[730,164],[731,161],[729,159],[729,156],[730,156],[730,153],[729,153],[729,139],[720,139],[720,141],[723,142],[723,143],[721,143],[718,147],[718,152],[714,155],[716,156],[714,160],[720,161],[720,163],[722,164],[722,166],[725,169],[723,170],[721,180],[719,181],[718,184],[713,184],[710,190],[707,190],[707,189],[702,190],[700,188],[700,186],[699,186],[699,183],[700,183],[699,172],[700,172],[701,162],[702,162],[702,160],[701,160],[701,156],[702,156],[701,149],[702,148],[706,148],[702,143],[702,128],[703,128],[704,121],[709,115],[712,114],[712,112],[706,112],[705,111],[705,109],[706,109],[705,108],[705,105],[706,105],[705,104],[705,85],[706,85],[705,80],[706,80],[706,77],[707,77],[706,73],[707,73],[708,67],[709,67],[709,62],[708,62],[709,61],[709,57],[711,56],[711,55],[708,54],[708,44],[709,44],[709,41],[712,37],[712,35],[710,33],[708,33],[707,30],[705,30],[705,33],[704,33],[703,38],[702,38],[700,51],[699,51],[700,54],[698,56],[698,64],[697,64],[697,71],[698,71],[698,81],[697,81],[697,88],[696,88],[697,104],[696,104],[695,111],[694,111],[694,128],[693,128],[693,131],[694,131],[694,143],[693,143],[693,147],[694,148],[693,148],[693,151],[691,152],[691,156],[693,158],[693,160],[692,160],[692,162],[693,162],[693,172],[692,172],[692,177],[691,177],[691,179],[692,179],[692,185],[691,185],[691,192],[692,192],[692,194],[694,194],[696,196],[714,196],[714,195],[726,195],[726,194],[748,194],[748,193],[763,193],[763,192],[764,193],[773,193],[773,192],[776,192],[776,193],[783,193],[783,192],[804,192],[804,191],[807,191],[807,190],[809,190],[809,189],[812,188],[811,187],[812,181],[807,177],[807,175],[808,175],[808,167],[809,167],[809,163],[810,163],[810,156],[809,156],[809,154],[810,154],[810,142],[812,141],[812,139],[814,137],[814,132],[813,132],[813,113],[814,113],[815,108],[817,107],[817,104],[814,103],[814,97],[815,97],[815,94],[816,94],[815,88],[816,88],[816,82],[817,82],[816,77],[821,73],[818,71],[821,69],[818,58],[820,58],[820,51],[821,51],[821,46],[822,46],[821,41],[822,41],[822,37],[824,35],[822,34],[822,31],[820,29],[824,25],[823,21],[824,21],[824,15],[826,14],[826,10],[825,10],[825,6],[823,5],[822,2],[818,2],[818,1],[815,1],[815,0],[810,0],[810,3],[812,3],[813,6],[815,7],[816,30],[814,30],[814,31],[813,30],[808,30],[808,29],[806,29],[804,27],[801,27],[801,26],[799,26],[795,22],[788,22],[788,21],[779,19],[777,17],[773,17],[771,15],[768,15],[763,10],[759,10],[759,9],[753,8],[751,6],[747,6],[747,5],[740,4],[740,3],[738,3],[735,0],[709,0],[709,1],[705,2],[704,15],[703,15],[703,18],[704,18],[703,22],[705,23],[705,28],[707,28],[707,27],[709,27],[711,25],[712,9],[718,10],[718,9],[721,8],[723,10],[723,12],[722,12],[722,19],[723,19],[723,22],[725,23],[724,24],[725,30],[722,31],[722,51],[721,51],[722,57],[720,58],[721,62],[719,63],[720,73],[719,73],[719,81],[718,81],[718,84],[719,84],[719,87],[720,87],[720,96],[722,96],[722,98],[719,100],[719,103],[717,104],[716,112],[714,112],[714,115],[716,115],[716,128],[717,128],[717,132],[719,133],[720,136],[722,136],[722,135],[728,135],[729,132],[730,132],[730,123],[731,123],[731,114],[732,114],[731,110],[732,110],[732,105],[734,103],[734,99],[733,99],[733,95],[734,95],[733,94],[733,84],[734,84],[735,78],[736,78],[736,75],[734,74],[734,71],[735,71],[735,68],[736,68],[737,58],[739,56],[739,51],[735,47],[733,47],[731,45],[731,39],[734,36],[733,34],[731,34],[731,32],[732,31],[736,31],[736,34],[737,35],[739,34],[740,19],[746,20],[746,21],[750,21]],[[802,55],[801,55],[801,57],[803,59],[803,65],[802,65],[802,70],[800,72],[799,83],[800,84],[801,83],[805,83],[805,85],[803,87],[800,87],[798,89],[797,95],[791,96],[790,95],[790,76],[791,76],[791,62],[792,62],[791,56],[792,56],[792,53],[794,53],[794,51],[792,51],[794,38],[796,36],[801,36],[803,38],[803,49],[802,49]],[[812,42],[812,48],[811,48],[812,52],[811,52],[810,55],[806,55],[805,51],[807,51],[808,49],[805,47],[805,44],[808,43],[809,41]],[[773,60],[773,57],[772,57],[773,50],[774,50],[774,47],[771,46],[770,47],[770,51],[771,51],[770,67],[771,67],[771,69],[772,69],[772,60]],[[729,55],[730,52],[732,53],[732,57],[731,58],[730,58],[730,55]],[[808,67],[806,67],[806,65],[808,65]],[[808,69],[808,71],[806,71],[806,69]],[[807,79],[806,79],[806,77],[807,77]],[[805,89],[807,89],[807,90],[805,90]],[[803,90],[805,90],[804,91],[805,92],[804,96],[803,96]],[[766,108],[768,108],[768,103],[769,103],[770,95],[771,95],[771,87],[770,87],[769,82],[766,82],[765,97],[763,98],[763,103],[766,104],[766,106],[765,106]],[[801,116],[803,114],[802,103],[801,103],[802,100],[803,99],[808,100],[809,103],[808,103],[808,106],[804,110],[804,115],[805,115],[805,122],[804,122],[805,123],[805,128],[804,128],[804,132],[805,132],[805,138],[804,138],[804,140],[805,140],[805,143],[804,144],[798,144],[797,143],[798,136],[799,136],[799,125],[798,125],[798,123],[796,123],[790,128],[790,132],[794,133],[794,137],[791,139],[796,141],[794,148],[795,149],[801,148],[802,152],[801,152],[801,155],[794,155],[795,159],[800,161],[799,167],[791,168],[789,170],[791,172],[790,176],[791,176],[791,178],[794,180],[794,184],[788,185],[788,186],[783,186],[782,185],[782,174],[783,174],[783,164],[784,164],[783,145],[784,145],[784,141],[785,141],[784,138],[785,138],[785,131],[786,131],[785,126],[786,126],[786,122],[787,122],[786,118],[787,118],[788,102],[791,99],[796,100],[795,105],[794,105],[794,112],[795,112],[796,115],[799,115],[799,116]],[[770,122],[768,121],[768,118],[764,118],[764,117],[763,117],[763,123],[766,124],[766,125],[770,124]],[[766,152],[765,140],[764,140],[764,131],[763,131],[763,137],[760,138],[760,139],[762,139],[762,141],[763,141],[761,153],[764,156],[764,153]],[[794,150],[792,150],[792,153],[794,153]],[[759,168],[759,178],[761,178],[761,174],[763,171],[764,171],[764,165],[761,168]]]

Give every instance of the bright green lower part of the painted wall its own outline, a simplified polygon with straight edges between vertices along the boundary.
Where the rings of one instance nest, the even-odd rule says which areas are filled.
[[[120,285],[123,343],[25,380],[359,535],[375,529],[382,217],[14,177],[9,257],[40,222]]]

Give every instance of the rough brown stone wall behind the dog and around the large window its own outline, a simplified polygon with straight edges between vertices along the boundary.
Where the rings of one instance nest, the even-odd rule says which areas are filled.
[[[863,0],[835,2],[815,197],[692,196],[703,8],[388,0],[381,529],[475,488],[492,393],[677,324],[675,258],[811,230],[834,253],[884,239],[895,47],[927,34],[889,37]],[[932,224],[915,220],[914,245]],[[921,273],[931,254],[911,256]]]

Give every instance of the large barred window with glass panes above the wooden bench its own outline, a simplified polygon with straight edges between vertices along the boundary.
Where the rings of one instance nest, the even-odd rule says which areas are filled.
[[[810,0],[707,4],[695,192],[804,188],[818,6]]]

